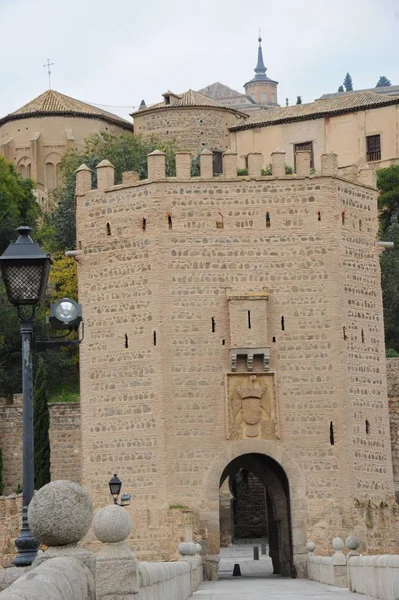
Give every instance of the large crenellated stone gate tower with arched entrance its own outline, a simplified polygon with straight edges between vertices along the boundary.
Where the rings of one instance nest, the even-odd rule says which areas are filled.
[[[142,558],[166,558],[181,505],[216,564],[219,487],[239,467],[267,489],[279,572],[304,573],[308,538],[396,549],[368,172],[344,180],[326,154],[311,176],[301,152],[286,176],[276,152],[273,176],[250,154],[242,179],[227,152],[213,178],[204,152],[190,178],[176,159],[170,179],[160,152],[146,181],[77,174],[83,484],[99,505],[118,473]]]

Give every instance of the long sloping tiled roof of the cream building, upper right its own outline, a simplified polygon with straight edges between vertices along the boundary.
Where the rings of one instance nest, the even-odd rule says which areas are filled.
[[[375,92],[359,92],[355,94],[344,94],[338,98],[317,100],[309,104],[296,104],[281,108],[270,108],[269,110],[255,113],[242,125],[230,127],[230,131],[252,129],[255,127],[267,127],[280,123],[292,123],[294,121],[308,121],[323,117],[357,112],[381,106],[399,104],[399,96],[384,96]]]

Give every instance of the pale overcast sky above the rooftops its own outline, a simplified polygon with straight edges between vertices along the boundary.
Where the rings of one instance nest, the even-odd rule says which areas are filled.
[[[0,117],[52,88],[121,116],[167,89],[252,78],[262,29],[278,100],[399,84],[399,0],[0,0]]]

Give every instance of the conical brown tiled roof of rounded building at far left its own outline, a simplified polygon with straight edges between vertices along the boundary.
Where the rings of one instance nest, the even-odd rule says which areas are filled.
[[[75,100],[70,96],[60,94],[55,90],[47,90],[34,100],[31,100],[13,113],[6,115],[0,119],[0,125],[7,121],[15,121],[26,117],[43,117],[43,116],[73,116],[86,117],[89,119],[103,119],[114,125],[119,125],[125,129],[132,130],[132,123],[125,121],[118,115],[86,104],[80,100]]]

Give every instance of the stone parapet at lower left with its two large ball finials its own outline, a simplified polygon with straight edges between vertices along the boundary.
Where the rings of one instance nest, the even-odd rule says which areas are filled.
[[[79,541],[91,526],[93,506],[77,483],[54,481],[41,488],[28,518],[47,550],[38,553],[31,568],[0,571],[0,589],[2,581],[8,585],[0,600],[187,600],[203,579],[202,548],[193,542],[179,545],[176,562],[138,563],[125,541],[131,517],[114,504],[94,518],[94,533],[102,542],[97,557],[85,550]]]

